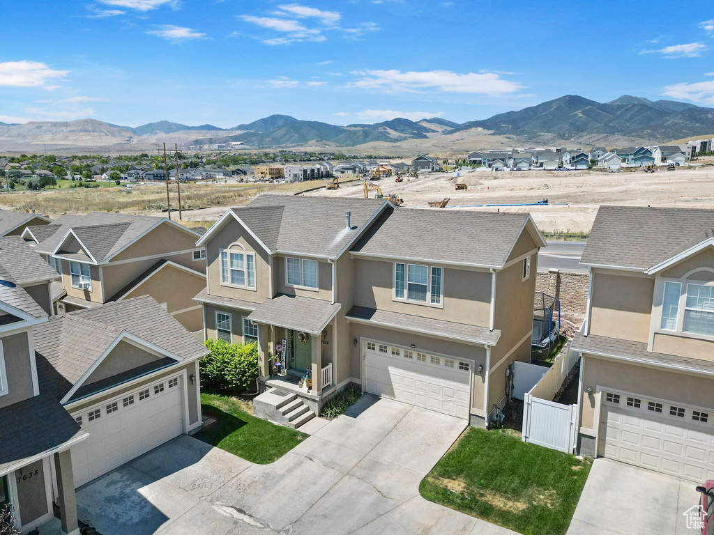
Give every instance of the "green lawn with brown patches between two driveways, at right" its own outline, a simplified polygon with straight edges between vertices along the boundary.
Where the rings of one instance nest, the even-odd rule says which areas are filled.
[[[568,529],[590,461],[470,428],[421,481],[421,495],[526,535]]]

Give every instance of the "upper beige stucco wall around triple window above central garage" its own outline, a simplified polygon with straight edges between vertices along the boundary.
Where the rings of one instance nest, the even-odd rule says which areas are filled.
[[[487,271],[441,265],[441,308],[394,300],[393,261],[355,258],[353,263],[355,305],[488,327],[491,314],[491,274]],[[339,274],[338,279],[341,276]]]

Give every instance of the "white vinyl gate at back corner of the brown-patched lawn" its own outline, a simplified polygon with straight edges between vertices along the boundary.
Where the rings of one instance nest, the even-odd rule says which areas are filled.
[[[526,394],[523,399],[523,442],[573,453],[578,405],[565,405]]]

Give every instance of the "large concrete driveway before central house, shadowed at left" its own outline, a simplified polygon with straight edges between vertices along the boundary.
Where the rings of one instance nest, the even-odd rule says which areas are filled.
[[[79,489],[79,517],[103,535],[513,534],[419,495],[465,428],[365,396],[272,464],[182,436]]]

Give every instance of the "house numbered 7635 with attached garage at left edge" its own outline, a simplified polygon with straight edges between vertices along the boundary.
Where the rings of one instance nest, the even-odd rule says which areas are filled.
[[[51,315],[54,277],[0,239],[0,504],[79,535],[76,487],[201,425],[207,350],[149,296]]]

